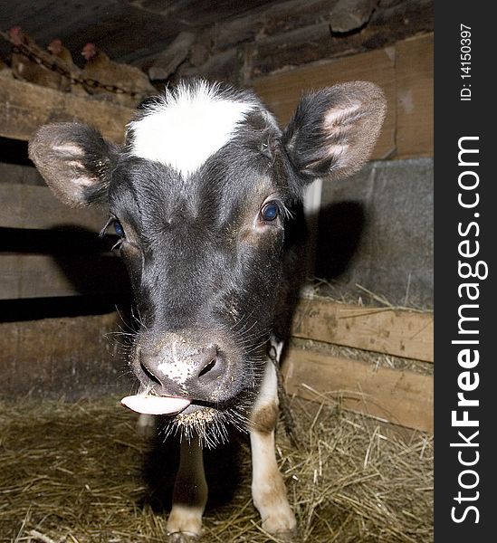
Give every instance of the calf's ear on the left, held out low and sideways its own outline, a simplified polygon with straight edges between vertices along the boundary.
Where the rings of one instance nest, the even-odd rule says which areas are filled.
[[[29,157],[64,204],[80,207],[107,199],[119,147],[88,125],[57,123],[35,132]]]

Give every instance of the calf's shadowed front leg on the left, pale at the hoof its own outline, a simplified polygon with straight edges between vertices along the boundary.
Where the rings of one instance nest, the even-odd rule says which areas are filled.
[[[181,442],[179,470],[173,491],[173,507],[167,519],[169,543],[200,536],[207,501],[204,458],[198,439]]]

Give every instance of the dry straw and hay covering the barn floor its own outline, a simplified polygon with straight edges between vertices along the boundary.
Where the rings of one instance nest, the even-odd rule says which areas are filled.
[[[303,542],[433,539],[430,435],[406,439],[337,406],[295,399],[292,408],[300,448],[280,430],[277,454]],[[139,438],[117,400],[5,400],[0,410],[2,543],[164,541],[176,453]],[[235,441],[234,455],[206,454],[212,505],[202,541],[278,541],[253,508],[247,440]]]

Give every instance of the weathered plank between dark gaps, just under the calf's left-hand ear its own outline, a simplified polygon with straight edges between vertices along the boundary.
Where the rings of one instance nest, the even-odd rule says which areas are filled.
[[[107,214],[99,207],[71,209],[55,198],[48,186],[0,183],[0,226],[50,229],[79,226],[100,232]]]

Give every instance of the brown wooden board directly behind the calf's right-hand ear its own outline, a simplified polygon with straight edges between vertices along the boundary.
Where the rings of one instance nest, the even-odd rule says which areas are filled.
[[[292,117],[303,90],[319,89],[343,81],[373,81],[387,96],[387,118],[372,158],[388,157],[395,150],[396,89],[393,48],[357,54],[284,71],[253,81],[253,89],[286,124]]]

